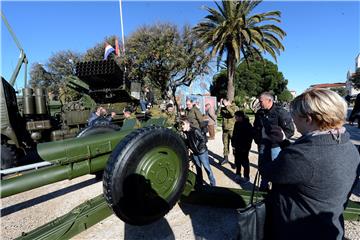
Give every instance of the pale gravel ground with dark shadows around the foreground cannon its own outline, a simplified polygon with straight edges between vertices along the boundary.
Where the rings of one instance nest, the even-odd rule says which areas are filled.
[[[347,126],[356,143],[360,142],[357,126]],[[234,170],[230,164],[219,166],[222,156],[221,132],[209,141],[210,161],[219,186],[251,188],[251,184],[240,186],[234,181]],[[230,156],[233,162],[233,157]],[[256,173],[257,152],[253,145],[250,154],[251,178]],[[206,174],[205,180],[208,182]],[[360,186],[353,194],[359,201]],[[14,239],[21,232],[28,232],[70,211],[85,200],[102,192],[102,183],[93,176],[83,176],[44,186],[26,193],[1,200],[1,239]],[[360,223],[346,222],[346,236],[360,239]],[[211,208],[190,204],[177,204],[164,218],[143,227],[125,224],[114,215],[91,227],[73,239],[234,239],[236,236],[236,212],[231,209]]]

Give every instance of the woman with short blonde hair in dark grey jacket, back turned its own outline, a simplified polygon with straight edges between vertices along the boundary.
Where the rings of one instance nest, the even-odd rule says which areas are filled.
[[[347,104],[335,92],[310,89],[290,105],[301,137],[271,162],[259,163],[272,182],[268,239],[343,239],[343,211],[360,156],[345,123]]]

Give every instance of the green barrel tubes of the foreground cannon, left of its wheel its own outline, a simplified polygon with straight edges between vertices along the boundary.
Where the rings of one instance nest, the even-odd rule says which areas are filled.
[[[55,165],[3,179],[0,189],[1,198],[103,170],[109,154],[131,131],[39,144],[37,150],[40,157]]]

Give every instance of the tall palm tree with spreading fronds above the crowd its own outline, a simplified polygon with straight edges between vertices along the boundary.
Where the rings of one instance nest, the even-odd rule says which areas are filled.
[[[281,22],[280,11],[251,15],[260,2],[222,0],[221,5],[215,2],[218,9],[205,7],[210,14],[194,27],[198,37],[211,49],[212,56],[218,54],[218,66],[226,53],[229,100],[234,99],[235,68],[241,59],[262,58],[262,53],[269,53],[276,61],[276,54],[284,50],[279,37],[283,39],[286,33],[276,25],[266,24]]]

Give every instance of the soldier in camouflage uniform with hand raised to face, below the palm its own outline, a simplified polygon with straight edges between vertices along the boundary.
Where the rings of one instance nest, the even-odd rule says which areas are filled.
[[[235,112],[238,111],[238,107],[235,103],[227,99],[221,99],[220,114],[222,116],[222,130],[223,130],[223,144],[224,144],[224,159],[220,162],[221,165],[229,162],[229,146],[232,138],[232,133],[235,124]]]

